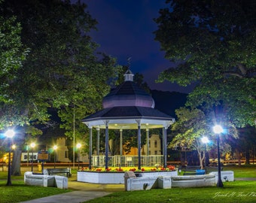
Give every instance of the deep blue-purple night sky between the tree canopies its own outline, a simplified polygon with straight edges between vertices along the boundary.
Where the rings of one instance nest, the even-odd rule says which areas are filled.
[[[155,83],[160,71],[172,66],[164,59],[160,43],[154,41],[160,8],[166,8],[165,0],[81,0],[88,5],[87,11],[98,21],[97,32],[92,32],[93,41],[100,44],[99,50],[117,58],[117,63],[143,74],[151,89],[189,92],[190,88],[164,82]]]

